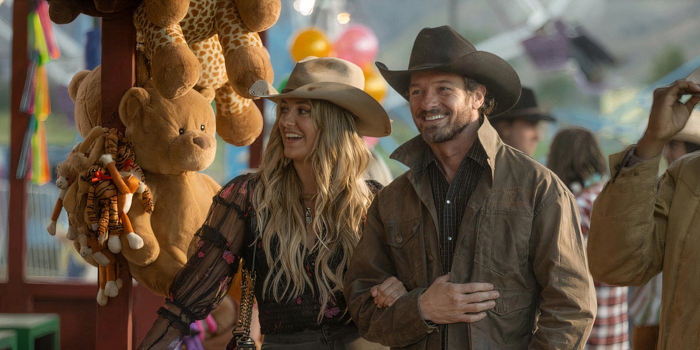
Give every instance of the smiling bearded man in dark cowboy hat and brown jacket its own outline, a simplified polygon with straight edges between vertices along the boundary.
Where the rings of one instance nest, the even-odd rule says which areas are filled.
[[[404,349],[583,349],[596,299],[573,196],[484,118],[515,104],[517,73],[447,26],[418,34],[409,69],[377,66],[421,135],[391,156],[410,170],[375,197],[346,273],[360,334]],[[396,278],[408,293],[377,307]]]

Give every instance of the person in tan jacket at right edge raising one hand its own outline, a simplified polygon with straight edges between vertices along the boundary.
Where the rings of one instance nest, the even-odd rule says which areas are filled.
[[[678,101],[683,94],[692,94],[685,104]],[[700,346],[700,153],[675,160],[657,179],[668,141],[686,123],[694,132],[700,127],[689,121],[699,102],[700,85],[690,81],[654,90],[647,130],[636,146],[610,155],[612,176],[591,216],[589,266],[596,279],[639,286],[663,270],[658,349]]]

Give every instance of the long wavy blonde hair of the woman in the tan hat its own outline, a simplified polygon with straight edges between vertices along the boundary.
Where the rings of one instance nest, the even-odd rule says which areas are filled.
[[[345,267],[360,240],[360,226],[372,201],[372,193],[363,181],[372,155],[357,133],[351,113],[330,102],[311,99],[311,121],[318,137],[307,162],[315,174],[318,193],[311,223],[316,241],[309,248],[300,179],[284,156],[283,139],[276,130],[279,117],[278,107],[253,192],[269,266],[263,295],[272,290],[274,300],[282,302],[299,297],[307,287],[314,290],[304,270],[304,257],[316,249],[314,279],[321,302],[320,323],[329,297],[342,287]],[[274,239],[276,245],[272,246]],[[342,248],[342,260],[333,271],[329,260],[338,248]]]

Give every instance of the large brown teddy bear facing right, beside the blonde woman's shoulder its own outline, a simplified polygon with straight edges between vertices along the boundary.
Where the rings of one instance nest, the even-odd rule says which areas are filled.
[[[175,274],[187,262],[188,246],[221,187],[199,173],[214,161],[216,123],[208,100],[195,90],[165,99],[151,83],[132,87],[119,106],[126,137],[153,193],[155,209],[129,211],[143,248],[123,245],[134,278],[167,295]]]

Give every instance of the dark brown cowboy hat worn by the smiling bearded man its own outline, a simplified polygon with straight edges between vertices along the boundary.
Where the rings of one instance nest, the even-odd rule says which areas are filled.
[[[405,99],[408,99],[411,74],[418,71],[456,73],[486,86],[486,92],[496,100],[491,116],[511,109],[520,96],[520,78],[510,64],[491,52],[477,51],[447,25],[420,31],[413,43],[408,69],[391,71],[384,63],[375,64],[386,82]]]

